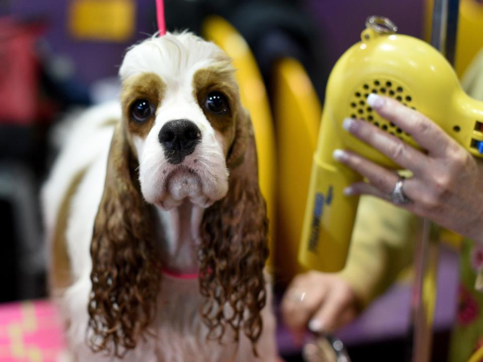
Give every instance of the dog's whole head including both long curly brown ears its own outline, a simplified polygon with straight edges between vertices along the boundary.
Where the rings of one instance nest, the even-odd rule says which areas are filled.
[[[210,336],[231,328],[235,339],[243,330],[255,343],[267,220],[252,124],[230,59],[190,33],[168,33],[132,47],[120,76],[123,119],[91,246],[91,346],[120,354],[143,335],[161,278],[149,205],[170,209],[186,199],[205,209],[200,293]]]

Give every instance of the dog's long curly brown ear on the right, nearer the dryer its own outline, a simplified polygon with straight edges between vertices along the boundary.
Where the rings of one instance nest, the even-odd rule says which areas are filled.
[[[237,341],[241,329],[257,355],[255,344],[263,327],[260,313],[266,302],[263,269],[268,221],[258,185],[252,123],[248,113],[241,111],[226,161],[228,193],[203,217],[200,290],[206,297],[202,317],[210,330],[208,337],[221,340],[230,327]]]

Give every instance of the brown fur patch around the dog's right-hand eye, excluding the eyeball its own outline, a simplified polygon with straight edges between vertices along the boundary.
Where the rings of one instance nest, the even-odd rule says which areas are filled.
[[[211,92],[220,92],[226,96],[229,105],[228,112],[216,115],[206,108],[206,97]],[[238,86],[232,71],[215,66],[199,69],[193,76],[193,95],[211,126],[228,138],[227,145],[231,144],[234,137],[234,120],[240,108]]]

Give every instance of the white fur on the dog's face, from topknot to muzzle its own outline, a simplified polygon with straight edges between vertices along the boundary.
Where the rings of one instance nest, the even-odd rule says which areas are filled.
[[[228,171],[223,144],[193,95],[193,75],[213,65],[230,69],[228,58],[217,46],[190,33],[153,37],[131,48],[124,58],[119,69],[121,79],[154,73],[166,84],[154,126],[145,140],[136,137],[134,141],[139,156],[141,191],[148,203],[171,209],[189,198],[193,204],[206,208],[226,194]],[[202,135],[201,144],[185,158],[182,166],[167,162],[158,140],[160,129],[177,119],[194,122]],[[174,178],[173,172],[178,173]]]

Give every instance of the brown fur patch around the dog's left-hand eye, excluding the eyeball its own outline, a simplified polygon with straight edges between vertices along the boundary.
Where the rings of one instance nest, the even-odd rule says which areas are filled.
[[[121,104],[123,118],[127,120],[127,129],[131,135],[146,138],[154,124],[155,115],[151,115],[146,122],[138,123],[132,119],[131,106],[137,100],[145,99],[157,109],[163,101],[166,83],[154,73],[143,73],[128,78],[122,85]]]

